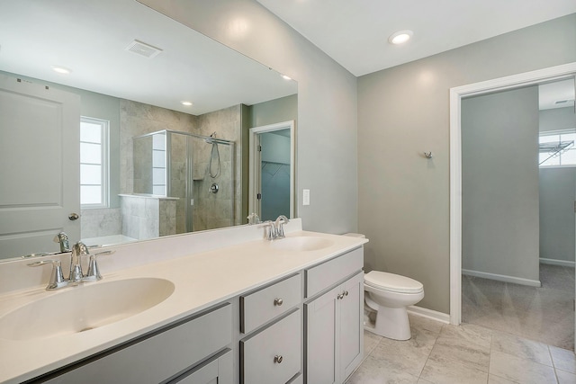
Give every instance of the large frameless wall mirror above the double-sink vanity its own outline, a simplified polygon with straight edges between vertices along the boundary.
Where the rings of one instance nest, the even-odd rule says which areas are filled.
[[[245,224],[249,129],[297,125],[297,84],[136,0],[21,0],[0,119],[5,260]]]

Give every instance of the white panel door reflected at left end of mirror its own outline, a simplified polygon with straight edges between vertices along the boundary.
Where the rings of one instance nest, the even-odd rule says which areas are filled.
[[[80,237],[79,121],[77,94],[0,75],[2,255]]]

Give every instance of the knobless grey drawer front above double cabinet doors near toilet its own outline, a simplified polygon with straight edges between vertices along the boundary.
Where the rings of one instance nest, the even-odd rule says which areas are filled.
[[[364,248],[360,247],[306,270],[306,298],[326,290],[363,267]]]

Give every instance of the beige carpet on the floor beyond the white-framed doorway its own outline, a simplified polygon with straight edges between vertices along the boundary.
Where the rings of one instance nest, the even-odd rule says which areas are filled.
[[[574,349],[574,268],[540,264],[541,288],[462,276],[463,323]]]

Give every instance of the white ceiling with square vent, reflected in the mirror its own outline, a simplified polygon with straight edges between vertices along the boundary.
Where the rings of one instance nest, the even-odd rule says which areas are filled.
[[[144,58],[126,50],[133,40],[163,51]],[[194,115],[297,92],[294,81],[134,0],[4,1],[0,70]]]

